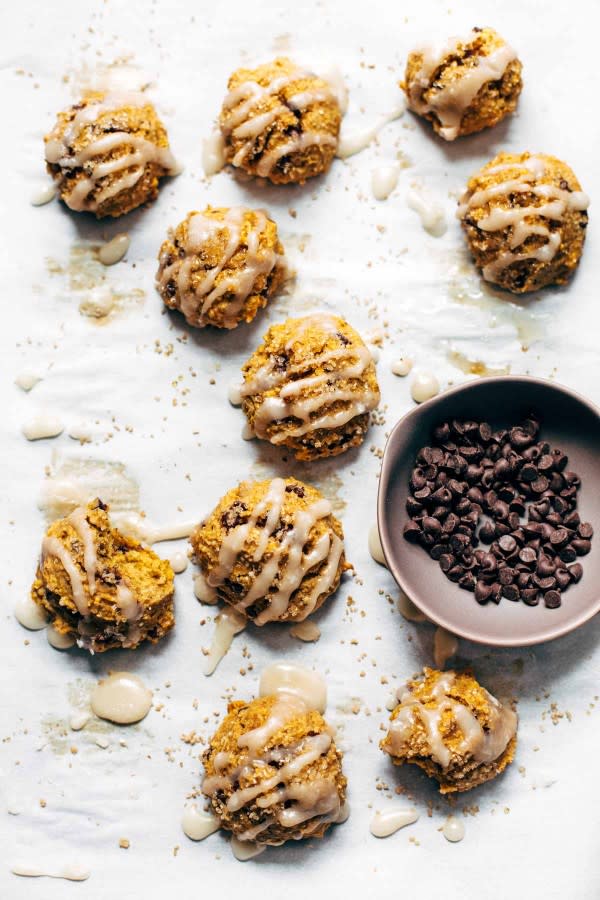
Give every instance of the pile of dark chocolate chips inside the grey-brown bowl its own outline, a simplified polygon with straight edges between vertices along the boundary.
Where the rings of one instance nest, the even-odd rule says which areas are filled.
[[[478,603],[543,599],[555,609],[583,575],[577,557],[589,553],[593,528],[577,513],[581,481],[539,431],[533,415],[500,431],[454,420],[417,454],[404,537]]]

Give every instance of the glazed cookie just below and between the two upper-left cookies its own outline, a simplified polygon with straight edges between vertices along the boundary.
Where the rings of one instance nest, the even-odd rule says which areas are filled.
[[[285,280],[277,225],[260,209],[191,212],[160,248],[158,292],[190,325],[251,322]]]

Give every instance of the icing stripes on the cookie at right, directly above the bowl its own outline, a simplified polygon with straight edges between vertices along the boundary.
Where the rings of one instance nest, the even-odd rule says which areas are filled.
[[[510,249],[500,253],[483,268],[483,277],[492,283],[497,282],[504,269],[513,263],[527,259],[551,262],[561,245],[562,234],[560,227],[551,230],[548,227],[549,223],[560,223],[567,211],[583,211],[589,206],[589,198],[583,191],[568,191],[554,184],[538,183],[547,171],[546,163],[540,156],[484,167],[481,174],[493,175],[502,171],[511,171],[514,177],[490,185],[488,188],[465,192],[457,211],[459,219],[464,219],[470,210],[485,206],[497,197],[508,200],[510,194],[533,194],[541,202],[536,205],[510,208],[491,207],[487,215],[477,222],[477,227],[482,231],[494,232],[510,228],[508,237]],[[548,220],[548,225],[543,222],[531,222],[534,216]],[[519,251],[518,248],[522,247],[532,235],[546,240],[539,247]]]

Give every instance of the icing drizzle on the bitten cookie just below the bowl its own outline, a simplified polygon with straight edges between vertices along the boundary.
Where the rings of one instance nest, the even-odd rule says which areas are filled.
[[[516,714],[503,706],[495,697],[485,691],[490,706],[490,725],[479,723],[477,716],[458,700],[448,696],[456,679],[454,672],[444,672],[431,690],[435,706],[426,706],[409,689],[399,692],[400,708],[391,721],[389,746],[393,756],[402,756],[410,739],[416,720],[425,729],[429,753],[434,762],[447,769],[452,761],[452,751],[444,743],[439,730],[442,714],[450,710],[463,739],[458,752],[469,755],[477,763],[490,763],[504,752],[517,728]]]

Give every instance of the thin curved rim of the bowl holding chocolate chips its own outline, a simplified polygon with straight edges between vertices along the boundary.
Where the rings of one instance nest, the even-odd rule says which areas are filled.
[[[545,388],[549,388],[550,390],[555,390],[557,393],[563,394],[569,399],[575,400],[583,406],[587,407],[592,415],[594,415],[600,421],[600,407],[596,406],[595,403],[592,403],[591,400],[588,400],[587,397],[584,397],[578,391],[574,391],[572,388],[567,387],[567,385],[552,381],[548,378],[538,378],[534,375],[489,375],[479,377],[477,379],[474,379],[473,381],[464,382],[463,384],[455,385],[454,387],[450,387],[447,390],[437,394],[435,397],[431,397],[429,400],[426,400],[424,403],[421,403],[418,406],[409,409],[408,412],[406,412],[398,419],[398,421],[390,431],[383,451],[379,476],[379,487],[377,489],[377,528],[379,531],[379,540],[381,542],[386,566],[389,569],[392,577],[394,578],[394,581],[396,582],[398,587],[400,587],[400,589],[404,591],[407,597],[412,600],[415,606],[424,615],[426,615],[434,625],[445,628],[452,634],[457,635],[457,637],[461,637],[466,640],[473,641],[473,643],[481,644],[487,647],[532,647],[537,644],[547,643],[549,641],[557,640],[560,637],[564,637],[566,634],[569,634],[571,631],[574,631],[576,628],[580,628],[582,625],[585,625],[586,622],[589,622],[590,619],[592,619],[598,612],[600,612],[600,589],[598,590],[596,601],[593,604],[590,604],[590,606],[587,607],[584,612],[580,613],[575,619],[569,620],[558,629],[553,630],[551,634],[533,639],[527,637],[522,639],[494,638],[493,641],[490,641],[488,638],[481,637],[476,632],[469,631],[466,628],[457,628],[454,623],[450,622],[448,619],[445,619],[444,616],[440,616],[438,614],[431,615],[430,610],[425,609],[419,602],[420,598],[411,596],[410,591],[406,587],[406,582],[403,579],[401,569],[395,563],[394,553],[391,546],[392,542],[388,540],[388,529],[382,528],[382,522],[385,522],[387,519],[385,494],[390,482],[390,472],[393,468],[392,461],[395,462],[397,459],[397,454],[392,455],[391,453],[393,439],[397,432],[401,428],[404,429],[410,421],[418,419],[424,409],[432,409],[435,406],[439,406],[448,397],[454,396],[456,394],[468,393],[474,388],[481,389],[483,385],[499,382],[520,382],[525,384],[537,384],[542,385]]]

